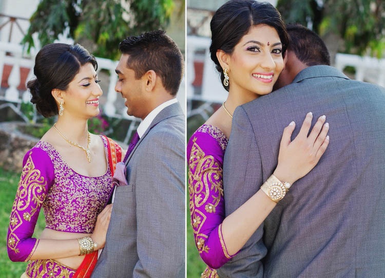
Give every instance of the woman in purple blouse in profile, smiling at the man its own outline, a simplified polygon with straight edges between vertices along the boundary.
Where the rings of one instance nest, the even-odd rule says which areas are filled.
[[[99,114],[103,94],[97,68],[80,45],[50,44],[36,55],[36,79],[27,84],[31,102],[44,117],[59,116],[25,155],[12,207],[8,255],[29,261],[22,277],[89,276],[85,270],[104,246],[113,190],[108,161],[121,149],[88,132],[87,120]],[[109,153],[111,148],[117,152]],[[46,228],[33,238],[41,208]]]

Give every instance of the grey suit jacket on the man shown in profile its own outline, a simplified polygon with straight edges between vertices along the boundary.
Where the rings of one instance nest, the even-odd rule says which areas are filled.
[[[128,157],[92,277],[184,277],[185,116],[165,107]]]

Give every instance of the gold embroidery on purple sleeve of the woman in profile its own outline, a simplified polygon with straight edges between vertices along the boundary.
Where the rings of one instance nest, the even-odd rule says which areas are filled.
[[[41,206],[46,195],[44,188],[47,182],[44,177],[41,176],[41,172],[35,169],[31,154],[32,152],[29,154],[23,168],[10,216],[8,247],[15,253],[20,252],[17,248],[20,239],[15,233],[16,230],[23,224],[23,219],[26,221],[31,220],[31,217],[35,214],[38,207]],[[30,212],[24,211],[28,208],[31,208]],[[32,252],[33,251],[34,250],[32,250]]]

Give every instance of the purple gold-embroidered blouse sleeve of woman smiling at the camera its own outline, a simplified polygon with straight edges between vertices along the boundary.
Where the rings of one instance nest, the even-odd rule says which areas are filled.
[[[219,128],[202,125],[187,144],[191,225],[202,260],[214,269],[232,258],[221,231],[224,219],[223,156],[227,142]]]

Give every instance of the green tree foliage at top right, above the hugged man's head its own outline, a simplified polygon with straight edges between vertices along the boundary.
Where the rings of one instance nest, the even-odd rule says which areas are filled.
[[[331,52],[382,57],[385,50],[383,0],[279,0],[287,23],[312,26]]]

